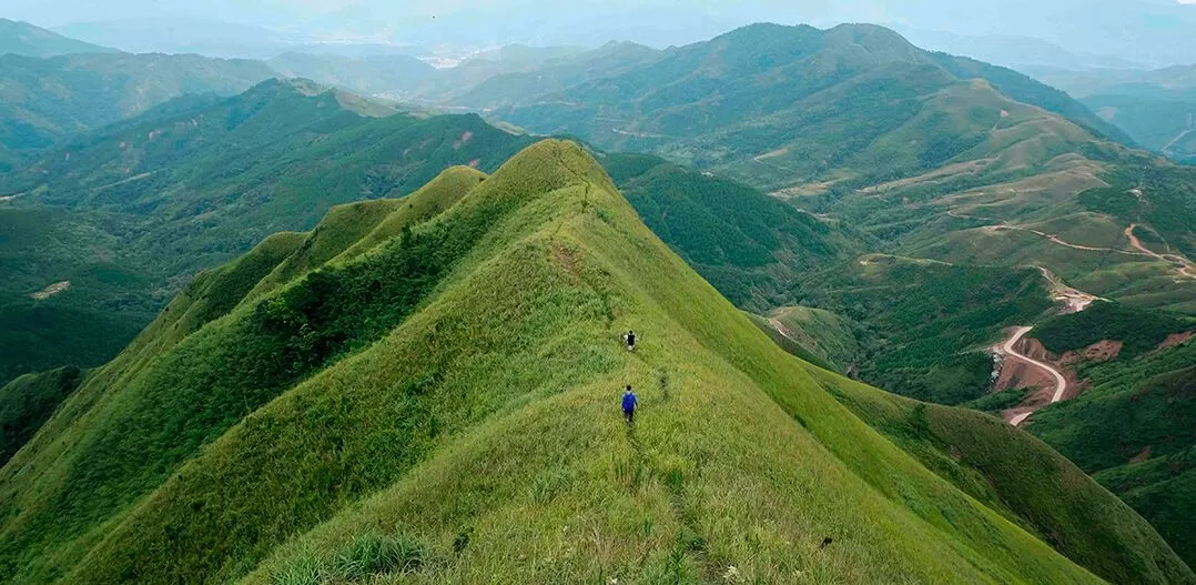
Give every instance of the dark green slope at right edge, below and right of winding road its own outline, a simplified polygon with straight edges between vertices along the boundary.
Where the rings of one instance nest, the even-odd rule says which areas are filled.
[[[1073,367],[1087,390],[1035,413],[1026,428],[1067,455],[1196,561],[1191,435],[1196,423],[1196,319],[1116,303],[1055,317],[1035,329],[1054,355],[1115,345],[1106,361]]]

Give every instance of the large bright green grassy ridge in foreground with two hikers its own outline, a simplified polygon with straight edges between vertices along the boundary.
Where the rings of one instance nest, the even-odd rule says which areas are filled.
[[[575,145],[541,142],[458,190],[471,182],[421,190],[415,207],[444,211],[403,226],[401,205],[371,205],[397,236],[356,249],[325,233],[318,248],[346,251],[245,297],[287,262],[261,249],[295,239],[267,240],[208,318],[177,299],[0,470],[0,574],[1196,583],[1061,459],[1006,474],[1042,498],[1006,505],[1008,485],[986,504],[927,469],[826,391],[846,380],[785,354],[659,242]],[[630,428],[623,384],[641,396]],[[1002,433],[1020,446],[981,441],[997,462],[1037,445]]]

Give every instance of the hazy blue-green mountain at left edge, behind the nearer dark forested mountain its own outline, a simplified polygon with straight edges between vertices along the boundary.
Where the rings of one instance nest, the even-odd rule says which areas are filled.
[[[274,75],[260,61],[199,55],[0,55],[0,171],[67,135],[172,98],[239,93]]]

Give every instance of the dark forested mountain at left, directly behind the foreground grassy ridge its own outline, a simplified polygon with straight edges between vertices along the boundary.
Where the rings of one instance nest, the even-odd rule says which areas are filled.
[[[0,380],[98,366],[196,272],[331,206],[405,195],[452,165],[493,170],[529,142],[477,116],[364,116],[350,98],[274,80],[183,98],[0,176],[0,193],[23,194],[0,202]]]

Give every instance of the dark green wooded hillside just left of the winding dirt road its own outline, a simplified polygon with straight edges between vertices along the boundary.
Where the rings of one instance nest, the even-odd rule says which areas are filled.
[[[860,377],[929,402],[959,404],[991,386],[984,349],[1033,323],[1051,301],[1038,270],[865,256],[800,285],[807,303],[865,325]]]

